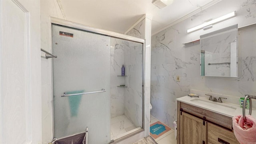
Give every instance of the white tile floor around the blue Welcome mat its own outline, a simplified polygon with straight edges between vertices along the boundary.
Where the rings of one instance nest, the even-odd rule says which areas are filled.
[[[159,120],[156,119],[154,116],[150,115],[150,124],[153,124],[157,121],[159,121]],[[173,129],[169,130],[168,132],[166,132],[159,138],[155,139],[155,141],[158,144],[176,144],[177,143]]]

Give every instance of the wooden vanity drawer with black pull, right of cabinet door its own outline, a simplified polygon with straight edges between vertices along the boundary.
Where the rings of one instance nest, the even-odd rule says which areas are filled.
[[[240,144],[233,132],[207,122],[208,144]]]

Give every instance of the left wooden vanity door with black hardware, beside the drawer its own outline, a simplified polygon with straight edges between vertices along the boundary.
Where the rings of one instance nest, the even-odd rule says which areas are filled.
[[[206,125],[203,120],[182,112],[180,115],[180,144],[205,144]]]

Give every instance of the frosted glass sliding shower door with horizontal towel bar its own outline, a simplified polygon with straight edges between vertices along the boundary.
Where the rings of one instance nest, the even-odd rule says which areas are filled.
[[[54,137],[110,142],[110,37],[52,25]],[[104,92],[104,90],[106,92]],[[99,91],[99,92],[98,92]],[[92,92],[90,94],[81,94]],[[93,93],[97,92],[97,93]],[[74,96],[64,96],[78,94]]]

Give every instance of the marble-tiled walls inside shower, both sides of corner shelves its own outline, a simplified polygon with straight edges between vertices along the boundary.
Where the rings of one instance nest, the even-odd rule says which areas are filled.
[[[111,118],[125,114],[142,126],[142,44],[111,38],[110,56]],[[121,76],[123,64],[126,76]],[[117,87],[123,84],[127,87]]]

